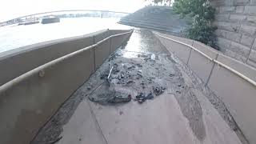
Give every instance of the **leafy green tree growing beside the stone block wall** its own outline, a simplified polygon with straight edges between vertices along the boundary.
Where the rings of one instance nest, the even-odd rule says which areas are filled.
[[[187,30],[187,37],[205,43],[218,49],[215,45],[216,36],[213,26],[214,7],[210,6],[208,0],[175,0],[174,12],[183,18],[188,16],[193,19],[190,28]]]

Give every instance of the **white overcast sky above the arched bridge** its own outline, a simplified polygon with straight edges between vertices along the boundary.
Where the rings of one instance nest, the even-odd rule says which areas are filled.
[[[1,2],[2,1],[2,2]],[[54,10],[113,10],[134,12],[145,0],[0,0],[0,22]]]

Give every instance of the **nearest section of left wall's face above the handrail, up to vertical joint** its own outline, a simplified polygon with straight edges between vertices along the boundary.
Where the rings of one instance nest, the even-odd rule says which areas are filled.
[[[93,38],[79,38],[67,42],[47,44],[46,46],[35,46],[31,50],[4,58],[0,60],[0,86],[46,62],[90,45],[93,45]]]

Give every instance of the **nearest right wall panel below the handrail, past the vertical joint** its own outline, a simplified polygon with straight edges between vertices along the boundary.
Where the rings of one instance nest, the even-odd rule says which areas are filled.
[[[214,66],[208,86],[222,98],[249,142],[256,143],[256,87],[222,66]]]

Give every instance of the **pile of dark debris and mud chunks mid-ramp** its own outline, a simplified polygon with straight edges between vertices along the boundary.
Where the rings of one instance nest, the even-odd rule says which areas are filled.
[[[107,70],[102,70],[101,79],[105,80],[94,93],[90,94],[92,102],[100,104],[114,104],[130,102],[134,99],[138,103],[154,99],[166,90],[161,81],[154,82],[159,74],[165,74],[159,56],[156,54],[138,54],[138,58],[123,58],[122,54],[112,54]],[[149,61],[142,62],[143,58]],[[158,79],[163,80],[164,77]],[[108,83],[108,84],[107,84]],[[164,82],[165,83],[165,82]],[[126,89],[125,92],[123,89]]]

